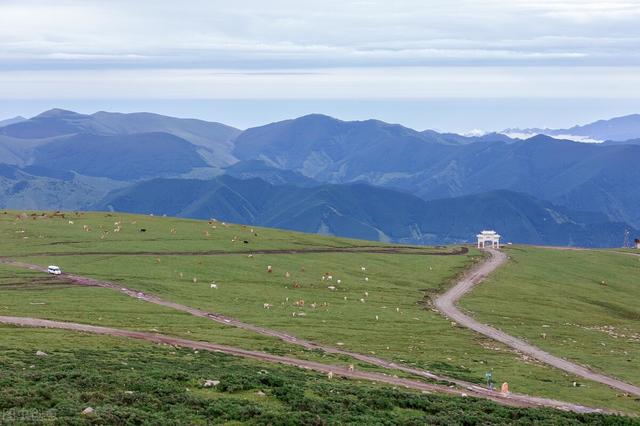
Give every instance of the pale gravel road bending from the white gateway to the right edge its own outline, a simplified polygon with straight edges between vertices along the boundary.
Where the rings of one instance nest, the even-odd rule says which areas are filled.
[[[486,249],[491,257],[488,261],[483,262],[477,267],[473,268],[468,274],[466,274],[458,283],[453,286],[449,291],[435,300],[436,308],[459,325],[467,327],[478,333],[497,340],[505,345],[516,349],[517,351],[531,356],[538,361],[553,367],[564,370],[568,373],[576,376],[584,377],[585,379],[593,380],[595,382],[603,383],[612,388],[619,389],[628,394],[640,396],[640,388],[629,383],[614,379],[603,374],[596,373],[589,370],[586,367],[551,355],[542,349],[533,346],[524,340],[513,337],[507,333],[504,333],[496,328],[493,328],[486,324],[481,324],[469,315],[462,313],[457,307],[456,303],[462,296],[468,293],[476,284],[482,282],[484,278],[502,266],[507,261],[507,255],[501,251],[494,249]]]

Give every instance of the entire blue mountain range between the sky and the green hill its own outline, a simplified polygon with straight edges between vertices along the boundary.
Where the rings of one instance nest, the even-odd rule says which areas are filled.
[[[55,109],[0,122],[0,207],[215,216],[418,243],[494,227],[513,242],[617,246],[640,228],[637,117],[567,129],[636,138],[585,144],[317,114],[241,131]]]

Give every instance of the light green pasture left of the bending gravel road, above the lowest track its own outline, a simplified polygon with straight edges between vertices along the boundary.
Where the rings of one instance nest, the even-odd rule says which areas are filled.
[[[120,225],[114,225],[116,222]],[[85,231],[84,226],[90,231]],[[114,227],[121,229],[113,232]],[[140,232],[141,228],[147,231]],[[518,392],[640,412],[639,403],[631,398],[591,382],[573,387],[572,382],[579,381],[575,377],[524,360],[500,344],[452,326],[431,311],[425,295],[442,290],[478,261],[480,253],[475,250],[457,256],[356,252],[256,253],[248,257],[250,251],[269,249],[364,248],[381,244],[252,230],[219,222],[105,213],[66,214],[64,218],[27,215],[16,219],[15,212],[0,212],[0,238],[0,256],[44,266],[58,264],[68,272],[119,282],[127,288],[248,323],[347,350],[375,353],[477,383],[482,383],[484,373],[491,370],[496,381],[508,381]],[[450,248],[429,250],[436,253]],[[211,251],[244,253],[203,254]],[[153,254],[139,254],[147,252]],[[189,253],[194,254],[186,255]],[[272,273],[267,272],[267,265],[273,267]],[[366,271],[361,270],[362,266]],[[333,275],[333,280],[323,281],[325,273]],[[349,362],[112,290],[39,282],[37,277],[41,275],[1,267],[0,315],[158,330],[167,335],[300,358]],[[218,289],[210,288],[213,281]],[[330,285],[336,289],[330,290]],[[298,300],[304,300],[305,306],[294,306]],[[264,309],[264,303],[273,307]],[[305,315],[299,315],[301,312]],[[0,336],[0,344],[3,342],[4,335]]]

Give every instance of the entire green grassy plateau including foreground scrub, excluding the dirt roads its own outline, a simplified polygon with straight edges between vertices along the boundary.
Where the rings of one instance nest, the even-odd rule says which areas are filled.
[[[457,255],[443,255],[458,252],[454,247],[391,252],[389,245],[369,241],[116,213],[0,212],[0,241],[1,257],[56,264],[65,272],[353,352],[479,384],[491,371],[496,382],[507,381],[516,392],[640,413],[640,402],[631,397],[526,359],[434,312],[429,296],[482,259],[475,249]],[[376,252],[383,248],[387,252]],[[465,296],[462,307],[552,353],[638,384],[635,301],[640,290],[633,287],[632,274],[638,275],[639,258],[520,247],[509,253],[508,265]],[[353,363],[9,265],[0,265],[0,315],[153,331]],[[546,338],[540,337],[544,332]],[[38,415],[52,410],[51,418],[44,418],[52,423],[635,422],[329,381],[294,368],[63,331],[0,326],[0,350],[0,413],[14,420],[30,413],[15,409],[31,409]],[[52,355],[36,358],[37,350]],[[261,369],[276,378],[258,374]],[[205,379],[219,379],[221,386],[205,390]],[[79,383],[82,391],[74,392]],[[94,416],[80,415],[87,405],[96,409]]]

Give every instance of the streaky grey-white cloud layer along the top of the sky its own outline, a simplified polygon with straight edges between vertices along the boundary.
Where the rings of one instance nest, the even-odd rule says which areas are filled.
[[[635,0],[9,0],[0,57],[13,68],[637,65],[638,17]]]

